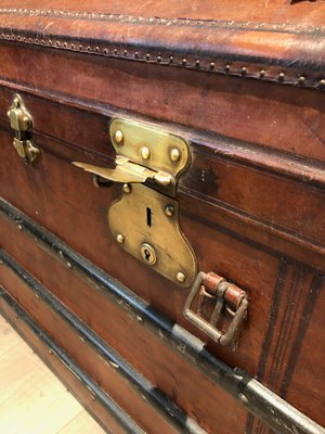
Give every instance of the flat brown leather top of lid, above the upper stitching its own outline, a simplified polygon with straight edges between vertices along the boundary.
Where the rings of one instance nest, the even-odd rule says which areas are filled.
[[[27,8],[43,10],[65,10],[82,12],[105,12],[135,16],[166,16],[195,20],[261,21],[278,23],[324,24],[323,1],[290,0],[222,0],[202,2],[200,0],[1,0],[1,8]]]

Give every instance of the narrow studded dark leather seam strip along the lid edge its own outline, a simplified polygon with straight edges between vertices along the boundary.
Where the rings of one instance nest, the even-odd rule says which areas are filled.
[[[186,52],[185,56],[183,56],[182,53],[172,52],[172,50],[167,53],[155,48],[134,47],[122,42],[110,43],[109,41],[90,41],[89,39],[84,42],[82,38],[46,37],[39,36],[35,31],[8,28],[0,28],[1,40],[325,90],[325,77],[316,67],[314,71],[306,72],[304,66],[304,72],[299,72],[294,67],[286,68],[278,65],[277,62],[275,64],[266,63],[265,61],[256,62],[249,58],[245,60],[245,58],[235,59],[234,56],[225,55],[218,58],[198,56],[190,52]]]

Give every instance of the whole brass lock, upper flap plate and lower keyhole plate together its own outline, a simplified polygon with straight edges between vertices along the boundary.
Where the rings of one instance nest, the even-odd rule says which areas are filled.
[[[174,199],[191,163],[187,141],[151,124],[114,119],[109,126],[116,167],[74,162],[96,186],[119,182],[122,196],[108,209],[112,233],[122,248],[182,286],[196,276],[195,254],[179,225]]]

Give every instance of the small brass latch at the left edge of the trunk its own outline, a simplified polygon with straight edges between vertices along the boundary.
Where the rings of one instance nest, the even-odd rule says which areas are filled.
[[[28,130],[32,127],[32,118],[27,111],[24,101],[20,94],[15,94],[13,103],[6,113],[10,126],[15,132],[13,145],[17,154],[26,163],[34,163],[40,155],[40,150],[28,138]]]

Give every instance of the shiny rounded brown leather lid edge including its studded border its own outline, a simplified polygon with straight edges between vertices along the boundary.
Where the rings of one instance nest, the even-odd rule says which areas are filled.
[[[46,8],[8,10],[0,3],[0,39],[83,51],[96,58],[324,88],[324,27],[317,20],[324,14],[324,4],[313,5],[314,13],[304,15],[309,25],[304,20],[290,24],[290,11],[296,7],[287,8],[274,24],[270,20],[274,9],[268,11],[265,22],[235,22],[230,15],[224,22],[220,17],[213,21],[212,15],[200,21],[165,18],[164,14],[161,18],[156,14],[150,18],[123,16],[112,11],[102,15]]]

